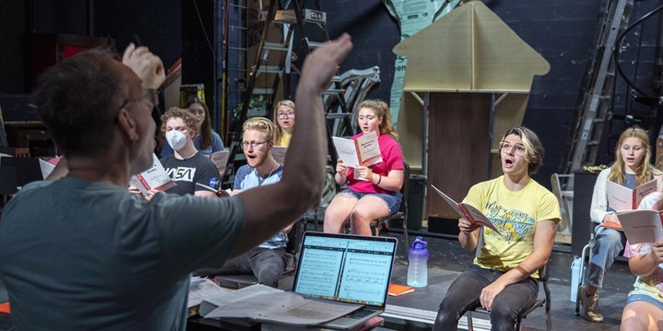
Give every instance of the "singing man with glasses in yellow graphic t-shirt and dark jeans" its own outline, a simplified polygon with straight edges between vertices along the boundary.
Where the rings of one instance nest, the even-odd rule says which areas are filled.
[[[457,330],[459,318],[478,306],[490,311],[492,330],[513,330],[516,318],[539,293],[538,270],[548,262],[560,221],[557,198],[534,182],[544,158],[537,134],[525,127],[507,130],[499,143],[504,175],[471,187],[464,203],[473,205],[499,230],[458,221],[465,250],[483,247],[442,299],[433,330]]]

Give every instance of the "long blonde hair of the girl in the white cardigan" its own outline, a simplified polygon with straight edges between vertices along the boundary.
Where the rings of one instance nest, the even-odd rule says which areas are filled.
[[[622,132],[622,135],[619,135],[619,141],[617,141],[617,147],[615,147],[615,163],[612,163],[610,166],[610,174],[608,175],[608,180],[615,182],[617,184],[624,184],[626,178],[624,178],[624,159],[622,158],[622,144],[626,138],[635,137],[640,140],[640,143],[645,149],[645,155],[638,164],[636,170],[636,185],[643,184],[651,180],[652,175],[654,175],[655,170],[652,169],[652,166],[649,164],[652,158],[652,151],[650,150],[649,144],[649,135],[647,131],[634,126],[633,128],[627,128]],[[656,171],[656,173],[658,173]]]

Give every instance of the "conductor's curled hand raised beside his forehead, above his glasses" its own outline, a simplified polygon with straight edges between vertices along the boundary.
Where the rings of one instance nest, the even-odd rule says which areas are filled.
[[[166,80],[164,63],[145,46],[136,47],[130,43],[124,50],[122,63],[136,73],[143,88],[159,88]]]

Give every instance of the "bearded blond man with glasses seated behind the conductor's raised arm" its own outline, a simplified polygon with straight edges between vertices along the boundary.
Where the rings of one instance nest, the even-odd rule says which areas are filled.
[[[275,184],[281,180],[283,166],[274,161],[270,150],[273,147],[275,125],[264,117],[254,117],[242,126],[242,149],[247,164],[242,165],[235,175],[232,194],[247,189]],[[267,221],[268,219],[265,219]],[[293,262],[292,255],[286,252],[287,233],[292,225],[221,266],[221,269],[198,271],[201,276],[252,274],[258,283],[276,288],[285,268]]]

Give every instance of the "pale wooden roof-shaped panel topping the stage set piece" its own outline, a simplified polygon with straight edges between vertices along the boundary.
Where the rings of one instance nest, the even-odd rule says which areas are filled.
[[[481,1],[459,6],[401,41],[404,91],[528,93],[549,63]]]

